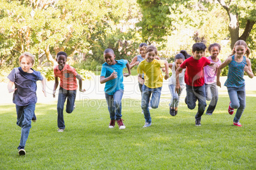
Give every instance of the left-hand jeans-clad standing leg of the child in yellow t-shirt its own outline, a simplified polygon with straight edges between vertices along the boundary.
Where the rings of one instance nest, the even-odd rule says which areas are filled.
[[[142,98],[141,98],[141,108],[143,110],[146,122],[151,123],[151,117],[150,117],[150,112],[148,109],[148,103],[149,103],[150,95],[151,95],[152,91],[150,88],[146,87],[145,85],[143,85],[142,89],[143,89],[143,91],[142,91]]]

